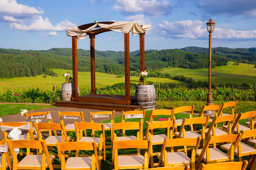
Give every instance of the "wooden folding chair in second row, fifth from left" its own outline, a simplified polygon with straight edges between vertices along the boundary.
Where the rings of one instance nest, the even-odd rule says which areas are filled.
[[[169,118],[170,119],[170,118]],[[153,122],[153,123],[148,123],[147,124],[147,128],[146,128],[146,132],[145,132],[145,136],[143,137],[144,140],[151,140],[152,141],[152,146],[156,146],[156,145],[163,145],[164,143],[164,139],[170,139],[173,137],[173,131],[175,128],[175,121],[161,121],[161,122]],[[161,128],[167,128],[167,135],[161,133]],[[155,130],[157,134],[153,135],[149,132],[149,130],[153,130],[153,129],[157,129]],[[154,163],[153,161],[153,156],[156,156],[157,153],[153,153],[153,147],[151,146],[151,152],[150,152],[150,164],[151,164],[151,168],[153,168],[154,166],[157,166],[158,163]],[[145,150],[144,150],[145,152]]]

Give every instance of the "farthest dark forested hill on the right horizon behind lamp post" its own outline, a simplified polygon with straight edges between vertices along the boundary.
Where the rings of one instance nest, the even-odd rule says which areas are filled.
[[[185,47],[180,48],[180,50],[192,52],[192,53],[201,53],[208,54],[208,48],[202,47]],[[219,56],[225,56],[231,58],[234,62],[247,63],[247,64],[256,64],[256,48],[227,48],[227,47],[215,47],[212,48],[212,53]]]

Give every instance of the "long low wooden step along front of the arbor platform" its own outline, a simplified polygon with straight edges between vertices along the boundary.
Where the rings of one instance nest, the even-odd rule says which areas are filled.
[[[115,111],[134,111],[141,110],[141,106],[113,103],[96,103],[84,101],[56,101],[58,107],[73,107],[83,109],[98,109],[98,110],[115,110]]]

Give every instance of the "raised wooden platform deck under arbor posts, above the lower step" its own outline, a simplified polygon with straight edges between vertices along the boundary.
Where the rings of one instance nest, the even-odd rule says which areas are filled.
[[[72,97],[72,101],[96,102],[96,103],[113,103],[113,104],[133,104],[135,96],[131,96],[131,100],[125,100],[124,95],[103,95],[90,94],[78,97]]]

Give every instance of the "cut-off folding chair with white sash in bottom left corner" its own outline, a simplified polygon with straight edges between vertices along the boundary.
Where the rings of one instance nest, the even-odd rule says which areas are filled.
[[[12,169],[12,159],[10,158],[5,140],[0,141],[0,152],[3,153],[2,156],[0,156],[0,170],[6,170],[8,167]]]

